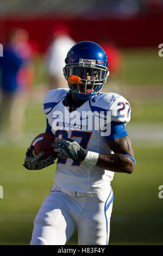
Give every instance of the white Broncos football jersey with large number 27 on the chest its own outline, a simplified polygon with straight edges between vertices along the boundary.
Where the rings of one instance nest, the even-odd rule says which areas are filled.
[[[99,93],[93,100],[87,100],[73,112],[64,106],[68,89],[50,90],[43,101],[43,113],[56,138],[72,138],[84,149],[101,154],[112,151],[105,138],[103,121],[128,123],[129,102],[116,93]],[[99,116],[98,113],[101,113]],[[109,115],[107,116],[107,113]],[[94,118],[94,119],[93,119]],[[93,123],[94,120],[94,123]],[[92,124],[93,123],[93,124]],[[106,127],[106,126],[105,126]],[[108,133],[106,133],[108,136]],[[59,157],[54,182],[60,187],[82,193],[98,193],[109,187],[114,172],[92,164]]]

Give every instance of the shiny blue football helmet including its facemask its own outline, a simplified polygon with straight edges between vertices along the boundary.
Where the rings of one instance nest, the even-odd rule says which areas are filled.
[[[108,58],[103,48],[91,41],[74,45],[65,59],[64,76],[78,99],[87,100],[101,92],[109,76]]]

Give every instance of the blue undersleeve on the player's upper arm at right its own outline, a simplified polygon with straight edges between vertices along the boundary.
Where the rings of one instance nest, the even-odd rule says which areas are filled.
[[[112,121],[110,135],[106,136],[105,139],[108,142],[111,141],[111,139],[122,138],[124,136],[128,136],[124,123]]]

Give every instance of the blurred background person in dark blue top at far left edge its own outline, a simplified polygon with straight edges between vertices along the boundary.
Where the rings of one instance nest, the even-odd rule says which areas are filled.
[[[22,67],[22,58],[14,51],[12,47],[14,35],[9,33],[6,45],[4,45],[3,57],[0,58],[1,73],[1,101],[0,101],[0,131],[2,126],[11,127],[12,109],[18,93],[18,71]],[[20,106],[17,106],[20,107]],[[14,123],[16,120],[14,120]],[[6,129],[7,127],[5,127]]]

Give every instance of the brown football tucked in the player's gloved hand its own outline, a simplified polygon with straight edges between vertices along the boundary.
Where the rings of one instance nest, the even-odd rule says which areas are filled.
[[[52,133],[40,133],[37,135],[31,145],[34,146],[33,156],[36,156],[41,151],[44,151],[45,154],[41,157],[41,159],[46,159],[48,156],[56,156],[57,153],[54,152],[54,148],[52,147],[52,143],[54,142],[55,135]]]

